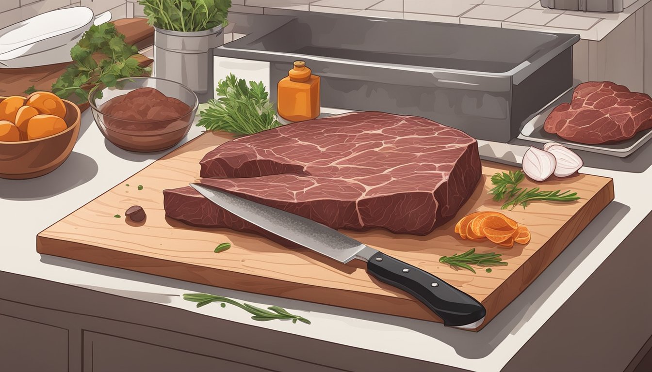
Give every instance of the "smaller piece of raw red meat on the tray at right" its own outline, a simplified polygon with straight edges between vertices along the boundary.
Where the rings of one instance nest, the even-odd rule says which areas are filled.
[[[630,139],[652,128],[652,98],[610,81],[582,83],[570,104],[548,115],[544,130],[569,141],[597,144]]]

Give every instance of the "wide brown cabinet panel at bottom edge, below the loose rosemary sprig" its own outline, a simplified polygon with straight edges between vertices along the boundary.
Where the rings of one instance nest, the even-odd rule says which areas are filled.
[[[270,371],[95,332],[83,334],[83,364],[84,372]]]

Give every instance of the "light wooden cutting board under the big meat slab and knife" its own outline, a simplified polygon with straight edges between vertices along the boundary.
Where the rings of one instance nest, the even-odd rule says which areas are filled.
[[[415,298],[370,277],[360,261],[342,265],[310,250],[284,248],[257,235],[198,229],[166,218],[162,191],[195,181],[204,154],[230,138],[207,132],[179,147],[42,231],[37,237],[37,251],[216,287],[441,322]],[[492,162],[482,165],[482,179],[457,217],[500,209],[487,193],[490,176],[514,168]],[[527,180],[523,184],[533,186]],[[138,190],[138,185],[143,189]],[[453,232],[457,218],[427,236],[395,235],[381,229],[342,232],[470,294],[487,309],[484,326],[614,199],[613,182],[603,177],[576,175],[550,180],[542,187],[571,189],[582,199],[563,204],[536,202],[526,210],[505,211],[529,227],[532,234],[529,244],[515,244],[511,249],[491,242],[461,240]],[[125,210],[132,205],[145,208],[144,222],[125,220]],[[115,218],[116,214],[121,218]],[[230,242],[231,249],[214,253],[222,242]],[[479,253],[503,253],[509,265],[494,267],[491,273],[479,269],[473,274],[439,263],[442,255],[470,248]]]

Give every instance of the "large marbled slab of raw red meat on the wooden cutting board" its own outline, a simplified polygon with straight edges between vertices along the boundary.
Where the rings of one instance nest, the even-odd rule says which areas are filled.
[[[477,142],[460,130],[363,112],[224,143],[201,160],[201,184],[334,229],[426,235],[455,216],[481,170]],[[164,205],[190,225],[261,233],[190,187],[165,190]]]

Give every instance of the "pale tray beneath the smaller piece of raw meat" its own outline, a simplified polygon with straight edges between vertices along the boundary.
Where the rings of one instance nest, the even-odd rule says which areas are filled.
[[[548,104],[548,106],[546,106],[544,109],[539,111],[539,113],[533,115],[531,119],[526,121],[526,124],[523,126],[520,134],[516,138],[524,139],[526,141],[531,141],[531,142],[537,142],[537,143],[546,143],[546,142],[554,141],[563,144],[565,147],[568,147],[569,149],[596,152],[598,154],[617,156],[619,158],[625,158],[626,156],[631,155],[632,153],[634,153],[634,151],[638,150],[638,148],[640,148],[647,141],[649,141],[650,138],[652,138],[652,129],[649,129],[649,130],[638,132],[636,136],[618,143],[610,143],[607,145],[605,144],[585,145],[584,143],[567,141],[566,139],[563,139],[557,136],[556,134],[550,134],[546,132],[543,129],[543,125],[546,122],[546,118],[548,117],[548,115],[550,115],[550,113],[555,107],[563,103],[571,102],[572,93],[574,89],[575,87],[572,87],[571,89],[566,91],[566,93],[559,96],[556,100],[550,102],[550,104]]]

